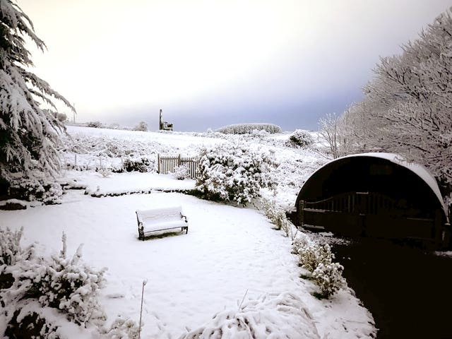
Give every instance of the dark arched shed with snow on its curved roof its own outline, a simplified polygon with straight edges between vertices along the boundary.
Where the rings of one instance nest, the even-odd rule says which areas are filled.
[[[362,153],[328,162],[304,183],[295,222],[347,236],[449,242],[447,211],[425,167],[393,153]]]

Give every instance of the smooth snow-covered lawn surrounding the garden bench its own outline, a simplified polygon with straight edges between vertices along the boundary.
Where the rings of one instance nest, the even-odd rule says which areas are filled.
[[[182,206],[189,233],[138,241],[136,209]],[[0,227],[24,227],[23,243],[39,242],[56,253],[61,233],[68,254],[83,243],[83,259],[108,267],[102,303],[138,322],[141,284],[145,286],[142,338],[177,338],[215,313],[266,293],[292,292],[313,316],[326,338],[368,335],[371,316],[350,292],[333,301],[311,296],[314,285],[299,278],[290,239],[258,211],[202,201],[183,194],[136,194],[93,198],[70,191],[61,205],[0,211]]]

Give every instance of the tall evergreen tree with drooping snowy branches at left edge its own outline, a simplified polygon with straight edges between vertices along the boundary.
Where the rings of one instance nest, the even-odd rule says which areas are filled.
[[[64,125],[52,112],[57,110],[52,100],[74,110],[47,82],[28,71],[33,63],[25,37],[44,51],[30,18],[13,1],[0,0],[0,181],[7,185],[57,174],[57,146]]]

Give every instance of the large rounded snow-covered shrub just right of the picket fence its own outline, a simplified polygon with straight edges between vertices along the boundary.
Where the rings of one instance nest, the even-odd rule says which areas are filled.
[[[205,198],[245,205],[273,186],[268,175],[275,166],[269,153],[244,145],[223,143],[201,151],[196,189]]]

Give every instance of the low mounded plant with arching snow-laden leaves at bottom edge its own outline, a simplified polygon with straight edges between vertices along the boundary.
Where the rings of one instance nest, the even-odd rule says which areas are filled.
[[[190,331],[181,339],[319,339],[320,335],[308,308],[291,293],[263,295],[213,316],[206,325]]]

